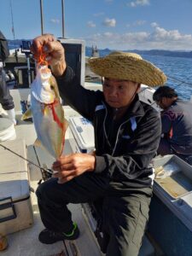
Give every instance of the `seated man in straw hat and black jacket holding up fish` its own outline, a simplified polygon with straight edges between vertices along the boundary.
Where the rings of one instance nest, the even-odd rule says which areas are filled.
[[[140,55],[113,52],[90,59],[91,70],[103,78],[103,91],[87,90],[67,66],[64,48],[53,35],[35,38],[32,53],[38,55],[41,47],[61,97],[92,122],[96,152],[67,154],[55,160],[54,177],[40,184],[36,192],[45,226],[38,239],[45,244],[77,239],[79,228],[67,204],[102,198],[101,229],[108,241],[103,251],[108,256],[136,256],[152,196],[150,162],[160,143],[160,115],[140,102],[137,93],[142,83],[164,84],[166,76]]]

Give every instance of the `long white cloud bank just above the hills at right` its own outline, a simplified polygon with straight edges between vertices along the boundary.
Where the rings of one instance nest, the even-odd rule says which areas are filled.
[[[167,31],[155,26],[152,32],[97,33],[84,38],[86,44],[110,49],[170,49],[191,50],[192,35],[181,34],[178,30]]]

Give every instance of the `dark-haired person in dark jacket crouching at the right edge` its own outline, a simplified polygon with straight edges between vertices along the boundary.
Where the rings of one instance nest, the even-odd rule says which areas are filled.
[[[154,102],[161,112],[162,136],[157,153],[176,154],[192,165],[192,103],[179,100],[169,86],[154,92]]]

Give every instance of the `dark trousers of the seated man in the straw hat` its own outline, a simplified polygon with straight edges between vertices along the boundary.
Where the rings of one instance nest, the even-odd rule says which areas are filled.
[[[110,192],[109,177],[105,174],[86,172],[73,180],[59,184],[50,178],[39,185],[38,207],[44,226],[49,230],[68,232],[72,230],[68,203],[84,203],[103,198],[103,227],[108,234],[108,256],[137,256],[148,221],[148,195],[144,189],[128,189],[123,193]]]

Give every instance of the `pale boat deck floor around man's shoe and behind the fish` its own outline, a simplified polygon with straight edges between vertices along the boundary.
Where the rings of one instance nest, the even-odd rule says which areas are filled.
[[[41,166],[46,165],[48,168],[52,165],[53,159],[41,148],[36,148],[38,154],[38,160],[34,152],[33,143],[36,139],[34,126],[31,122],[20,121],[20,116],[17,116],[19,120],[18,125],[15,126],[16,139],[15,143],[20,139],[24,139],[27,145],[27,159],[32,160],[38,164],[38,160]],[[66,134],[66,144],[64,153],[71,153],[71,147],[68,142],[68,132]],[[8,152],[8,157],[10,157]],[[10,163],[11,164],[11,163]],[[36,190],[38,187],[38,181],[41,178],[40,169],[36,166],[29,164],[29,176],[30,186]],[[59,241],[53,245],[44,245],[38,241],[38,233],[44,229],[38,212],[38,203],[35,193],[31,193],[32,209],[34,216],[34,224],[31,228],[26,230],[20,230],[8,236],[9,247],[7,250],[1,252],[3,256],[55,256],[55,255],[82,255],[82,256],[99,256],[101,255],[98,246],[96,245],[93,235],[90,232],[88,225],[82,214],[82,208],[80,205],[70,205],[69,208],[73,212],[73,220],[79,224],[80,236],[76,241]],[[90,253],[91,252],[91,253]]]

